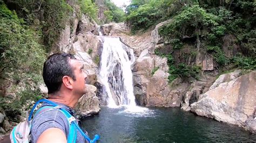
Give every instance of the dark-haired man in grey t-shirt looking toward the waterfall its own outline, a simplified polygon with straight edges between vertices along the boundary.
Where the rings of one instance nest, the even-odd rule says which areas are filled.
[[[86,77],[82,63],[72,54],[53,54],[44,62],[43,78],[48,88],[48,99],[71,115],[78,99],[85,94]],[[68,134],[68,119],[58,109],[38,113],[32,120],[32,142],[67,142]],[[76,142],[85,142],[78,131]]]

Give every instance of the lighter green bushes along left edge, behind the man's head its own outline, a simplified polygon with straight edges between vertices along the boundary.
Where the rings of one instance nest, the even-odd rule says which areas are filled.
[[[0,2],[0,54],[0,80],[9,81],[14,87],[20,82],[25,83],[24,89],[15,93],[15,99],[0,99],[0,106],[10,111],[6,113],[17,115],[27,100],[41,98],[37,89],[31,86],[42,83],[46,52],[44,46],[39,44],[38,33],[25,25],[24,20],[18,18],[16,12],[10,11],[3,2]]]

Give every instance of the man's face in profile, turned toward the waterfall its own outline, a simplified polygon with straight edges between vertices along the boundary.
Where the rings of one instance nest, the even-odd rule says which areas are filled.
[[[75,94],[80,95],[81,97],[85,94],[85,79],[87,74],[85,73],[84,66],[78,60],[70,60],[70,65],[72,66],[73,73],[76,77],[76,81],[73,82],[73,91]]]

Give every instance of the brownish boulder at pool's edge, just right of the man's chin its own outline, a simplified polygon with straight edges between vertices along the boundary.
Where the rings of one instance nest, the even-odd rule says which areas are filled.
[[[96,96],[97,88],[93,85],[86,84],[86,90],[86,94],[79,99],[75,108],[77,118],[79,119],[96,115],[100,111],[99,100]]]

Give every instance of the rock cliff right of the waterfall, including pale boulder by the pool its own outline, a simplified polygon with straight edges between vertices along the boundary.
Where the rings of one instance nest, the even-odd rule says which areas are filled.
[[[104,35],[120,37],[124,44],[134,49],[137,60],[133,66],[134,96],[137,104],[143,106],[181,107],[199,116],[235,124],[255,132],[256,102],[255,71],[241,75],[241,70],[220,75],[213,58],[202,52],[194,51],[191,45],[177,50],[160,37],[159,27],[172,22],[158,24],[153,31],[130,35],[124,23],[103,25]],[[225,56],[232,57],[239,52],[232,35],[223,38]],[[234,47],[228,49],[227,47]],[[158,48],[163,53],[171,53],[176,63],[186,62],[201,67],[200,78],[187,79],[183,82],[177,78],[168,82],[167,59],[154,54]],[[196,55],[187,56],[195,52]]]

